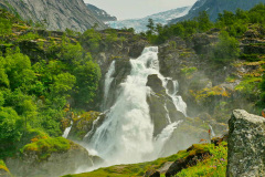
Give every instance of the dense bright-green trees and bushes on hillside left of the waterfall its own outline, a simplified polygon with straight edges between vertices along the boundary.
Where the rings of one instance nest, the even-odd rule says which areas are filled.
[[[30,139],[61,136],[68,112],[94,101],[100,69],[76,39],[0,10],[0,158]]]

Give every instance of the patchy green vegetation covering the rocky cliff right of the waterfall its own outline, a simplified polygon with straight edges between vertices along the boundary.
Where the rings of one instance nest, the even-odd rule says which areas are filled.
[[[190,88],[190,94],[193,95],[197,102],[203,102],[209,105],[213,105],[211,101],[219,97],[221,107],[227,107],[229,105],[236,104],[232,101],[235,94],[231,94],[231,91],[236,91],[236,95],[244,95],[248,103],[252,103],[252,112],[261,114],[261,110],[264,108],[264,35],[265,35],[265,21],[264,21],[265,4],[259,3],[252,8],[250,11],[237,9],[235,13],[230,11],[223,11],[219,14],[219,19],[215,22],[211,22],[208,13],[201,12],[198,18],[193,20],[187,20],[178,22],[171,25],[157,25],[155,27],[150,20],[148,28],[149,31],[142,33],[153,44],[169,43],[172,50],[182,52],[181,46],[177,49],[176,39],[181,38],[187,42],[188,48],[193,48],[197,54],[199,54],[201,65],[187,65],[187,61],[180,67],[181,74],[186,75],[188,81],[194,82],[192,85],[199,86],[199,82],[192,79],[198,77],[200,72],[210,70],[208,76],[211,79],[219,77],[218,71],[226,70],[227,67],[234,67],[234,71],[226,75],[224,85],[218,85],[213,81],[212,87],[203,87],[201,90]],[[215,40],[214,38],[218,37]],[[170,42],[168,42],[170,41]],[[192,43],[193,42],[193,43]],[[201,42],[201,43],[200,43]],[[195,46],[192,44],[195,43]],[[202,45],[205,45],[203,48]],[[184,46],[187,48],[187,46]],[[187,59],[189,59],[187,56]],[[206,62],[208,65],[203,65]],[[192,62],[191,62],[192,63]],[[208,67],[208,69],[206,69]],[[166,70],[166,69],[163,69]],[[237,71],[236,71],[237,70]],[[245,71],[242,71],[245,70]],[[212,74],[211,72],[215,72]],[[221,73],[219,73],[221,74]],[[226,85],[235,84],[235,87],[227,88]],[[200,87],[200,86],[199,86]],[[231,97],[231,98],[230,98]],[[186,97],[184,97],[186,98]],[[201,102],[202,103],[202,102]],[[215,104],[215,103],[214,103]],[[226,104],[226,106],[224,106]],[[245,106],[246,108],[247,106]],[[242,107],[243,108],[243,107]],[[227,108],[229,114],[231,112]],[[251,111],[251,110],[248,110]],[[223,110],[223,112],[226,112]],[[229,116],[226,116],[229,117]]]

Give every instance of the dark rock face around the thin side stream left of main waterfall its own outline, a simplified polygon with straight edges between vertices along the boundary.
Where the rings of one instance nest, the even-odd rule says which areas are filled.
[[[128,74],[131,71],[130,59],[137,59],[140,56],[145,46],[148,45],[148,42],[145,39],[136,38],[132,33],[116,30],[117,35],[119,38],[125,38],[126,41],[116,41],[112,44],[105,43],[100,41],[100,51],[96,53],[92,53],[93,58],[96,59],[96,62],[102,69],[102,80],[99,82],[99,90],[97,93],[97,102],[94,104],[95,107],[92,110],[104,112],[106,108],[109,108],[117,98],[117,93],[119,91],[119,84],[124,82]],[[106,38],[103,33],[103,38]],[[86,49],[85,44],[83,46]],[[109,70],[112,62],[115,61],[115,72],[112,77],[114,81],[109,87],[109,94],[107,101],[105,102],[105,110],[102,110],[103,101],[104,101],[104,86],[105,86],[105,76]]]

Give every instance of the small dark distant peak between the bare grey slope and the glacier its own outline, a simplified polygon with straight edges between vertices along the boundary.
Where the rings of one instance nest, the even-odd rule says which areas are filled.
[[[108,14],[105,10],[103,9],[99,9],[93,4],[89,4],[89,3],[86,3],[86,7],[89,9],[91,12],[93,12],[93,14],[104,21],[104,22],[107,22],[107,21],[117,21],[117,18],[114,17],[114,15],[110,15]]]

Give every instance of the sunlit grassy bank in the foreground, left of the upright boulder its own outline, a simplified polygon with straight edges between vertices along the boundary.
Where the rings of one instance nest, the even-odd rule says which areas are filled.
[[[199,162],[197,166],[183,169],[179,173],[180,176],[200,176],[204,173],[204,176],[223,176],[226,167],[226,144],[214,146],[213,144],[198,144],[193,145],[191,150],[180,150],[178,154],[166,158],[158,158],[153,162],[131,164],[131,165],[117,165],[106,168],[99,168],[97,170],[77,175],[66,175],[64,177],[137,177],[144,176],[148,169],[159,169],[167,162],[176,162],[180,158],[187,158],[190,155],[198,153],[210,153],[212,156]],[[179,176],[178,175],[178,176]],[[165,174],[161,174],[165,176]]]

